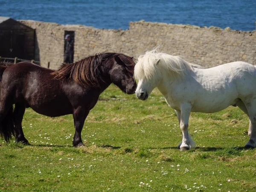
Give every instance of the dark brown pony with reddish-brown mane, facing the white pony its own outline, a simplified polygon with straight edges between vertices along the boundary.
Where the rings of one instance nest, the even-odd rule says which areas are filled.
[[[29,144],[21,122],[25,108],[46,116],[73,114],[73,146],[83,145],[81,131],[99,95],[111,84],[124,93],[133,94],[133,58],[120,53],[99,53],[74,64],[63,64],[59,70],[21,62],[0,65],[0,135],[9,142]],[[13,104],[15,108],[13,110]]]

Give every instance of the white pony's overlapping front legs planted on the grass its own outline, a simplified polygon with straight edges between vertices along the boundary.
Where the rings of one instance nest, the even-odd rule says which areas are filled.
[[[195,147],[195,142],[191,139],[188,132],[190,111],[191,111],[191,105],[189,105],[188,103],[182,104],[180,111],[175,110],[177,114],[177,118],[180,123],[180,129],[182,132],[182,141],[178,145],[178,148],[180,148],[180,151],[188,150],[190,148]]]

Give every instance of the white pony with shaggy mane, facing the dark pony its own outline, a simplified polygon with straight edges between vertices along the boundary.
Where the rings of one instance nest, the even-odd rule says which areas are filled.
[[[190,112],[214,113],[229,105],[238,106],[250,119],[249,141],[256,147],[256,67],[242,61],[209,69],[189,64],[180,56],[156,49],[140,55],[135,65],[138,99],[148,99],[157,87],[177,114],[182,131],[180,150],[195,147],[188,133]]]

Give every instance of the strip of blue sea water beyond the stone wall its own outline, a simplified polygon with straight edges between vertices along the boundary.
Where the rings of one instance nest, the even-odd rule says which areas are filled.
[[[105,29],[145,20],[253,31],[256,0],[0,0],[0,16]]]

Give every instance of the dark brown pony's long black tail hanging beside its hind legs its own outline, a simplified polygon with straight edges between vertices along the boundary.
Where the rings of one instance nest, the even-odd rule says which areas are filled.
[[[12,135],[15,136],[13,106],[9,108],[6,116],[3,118],[2,122],[0,122],[0,136],[2,139],[9,143],[10,139],[12,139]]]

